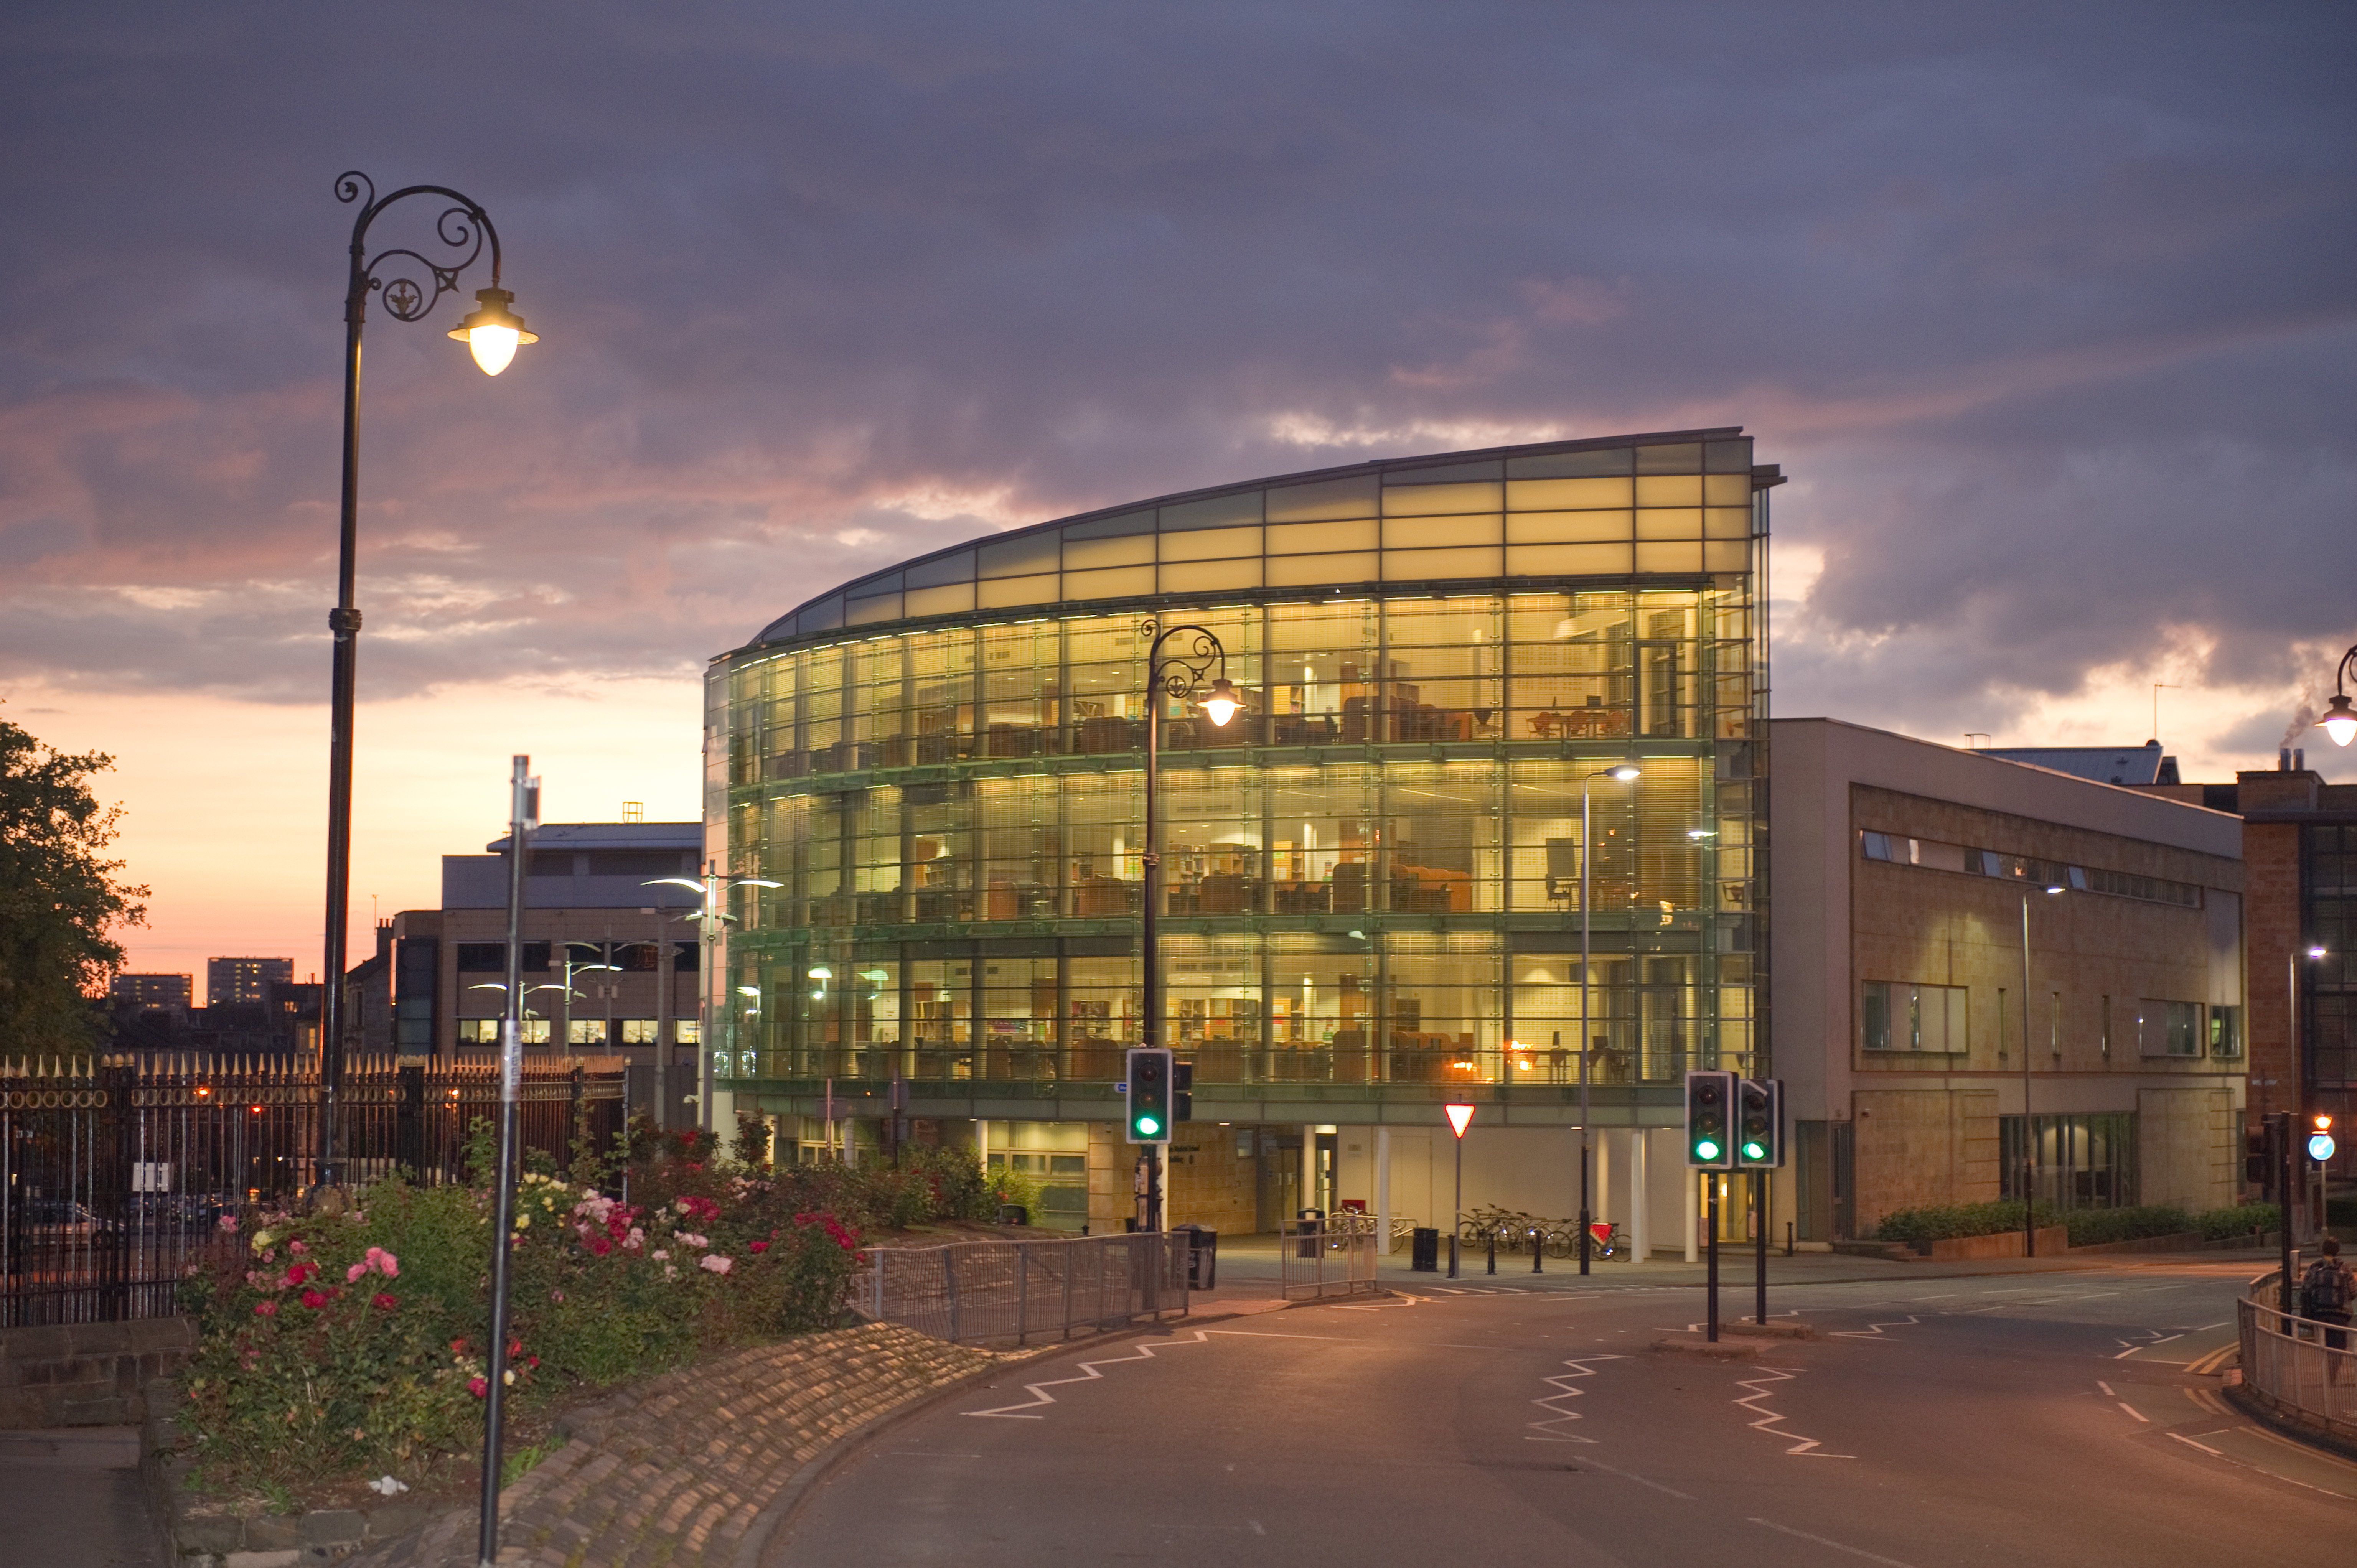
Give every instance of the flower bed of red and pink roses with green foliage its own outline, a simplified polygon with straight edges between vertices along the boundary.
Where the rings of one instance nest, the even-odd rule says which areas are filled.
[[[476,1155],[488,1165],[481,1134]],[[959,1153],[929,1151],[900,1172],[771,1172],[717,1158],[709,1139],[641,1137],[639,1155],[519,1184],[507,1243],[516,1464],[568,1398],[839,1323],[863,1226],[997,1203]],[[365,1497],[363,1483],[464,1485],[488,1394],[490,1219],[488,1188],[403,1181],[349,1207],[224,1219],[250,1238],[247,1257],[189,1285],[200,1337],[179,1434],[196,1483],[283,1509]]]

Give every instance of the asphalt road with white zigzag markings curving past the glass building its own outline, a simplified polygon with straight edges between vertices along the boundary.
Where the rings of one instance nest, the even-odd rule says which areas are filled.
[[[2256,1429],[2194,1370],[2232,1342],[2249,1273],[1789,1285],[1770,1311],[1822,1337],[1756,1363],[1648,1349],[1699,1337],[1685,1283],[1421,1276],[1171,1325],[1011,1365],[867,1441],[768,1568],[2345,1559],[2357,1467]]]

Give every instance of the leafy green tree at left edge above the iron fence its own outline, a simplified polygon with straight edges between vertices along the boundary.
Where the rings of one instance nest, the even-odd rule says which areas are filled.
[[[148,896],[108,861],[120,806],[90,778],[104,752],[59,752],[0,719],[0,1052],[90,1052],[104,1040],[94,1000],[123,967],[111,931],[146,924]]]

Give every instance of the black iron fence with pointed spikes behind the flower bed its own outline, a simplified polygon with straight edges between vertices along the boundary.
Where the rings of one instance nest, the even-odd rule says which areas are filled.
[[[346,1179],[455,1181],[497,1103],[490,1061],[346,1059]],[[0,1059],[0,1327],[172,1313],[191,1269],[243,1245],[224,1219],[316,1181],[318,1118],[299,1059]],[[521,1127],[559,1158],[610,1148],[622,1061],[526,1063]]]

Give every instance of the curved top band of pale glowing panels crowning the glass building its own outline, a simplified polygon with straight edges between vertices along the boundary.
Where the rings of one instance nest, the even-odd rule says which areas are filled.
[[[1735,540],[1749,549],[1749,490],[1751,439],[1739,424],[1306,469],[950,545],[799,604],[747,648],[886,620],[1157,592],[1739,571],[1742,561],[1725,561]],[[1518,523],[1558,521],[1508,535],[1508,512]]]

